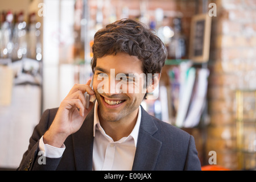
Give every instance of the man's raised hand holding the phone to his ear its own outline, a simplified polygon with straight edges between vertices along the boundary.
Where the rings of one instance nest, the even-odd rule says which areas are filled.
[[[52,125],[44,134],[45,144],[61,147],[69,135],[80,129],[86,115],[93,108],[93,103],[90,102],[89,108],[85,109],[84,93],[94,95],[89,84],[90,80],[85,85],[75,84],[68,96],[61,102]]]

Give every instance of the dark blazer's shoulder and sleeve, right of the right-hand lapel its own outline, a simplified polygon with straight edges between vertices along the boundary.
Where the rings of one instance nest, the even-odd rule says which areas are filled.
[[[201,170],[201,163],[193,136],[159,119],[155,118],[154,122],[158,127],[155,137],[162,142],[162,152],[159,154],[159,166],[157,169]]]

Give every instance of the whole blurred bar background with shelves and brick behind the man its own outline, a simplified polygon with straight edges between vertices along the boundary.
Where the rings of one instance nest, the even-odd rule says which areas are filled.
[[[121,18],[168,49],[144,109],[193,135],[202,167],[255,170],[255,0],[1,0],[0,169],[19,166],[43,111],[92,76],[93,36]]]

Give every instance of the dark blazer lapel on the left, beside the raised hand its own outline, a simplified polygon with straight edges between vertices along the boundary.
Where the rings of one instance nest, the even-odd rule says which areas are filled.
[[[94,108],[94,107],[93,107]],[[92,170],[94,109],[85,118],[79,131],[72,135],[76,170]]]

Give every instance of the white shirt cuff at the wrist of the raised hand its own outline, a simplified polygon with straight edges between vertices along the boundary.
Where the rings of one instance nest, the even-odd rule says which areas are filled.
[[[47,158],[61,158],[63,152],[65,150],[65,145],[61,146],[61,148],[50,146],[49,144],[44,144],[42,136],[39,140],[39,150],[43,152],[43,155]]]

